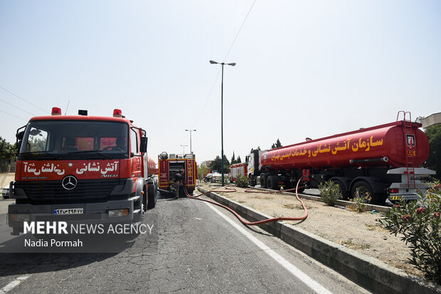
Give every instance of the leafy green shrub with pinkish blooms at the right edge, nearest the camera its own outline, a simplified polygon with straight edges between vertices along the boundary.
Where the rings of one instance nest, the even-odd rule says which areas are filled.
[[[379,221],[395,236],[403,234],[401,240],[410,243],[410,264],[441,285],[441,194],[432,185],[427,196],[419,195],[419,200],[395,204]]]

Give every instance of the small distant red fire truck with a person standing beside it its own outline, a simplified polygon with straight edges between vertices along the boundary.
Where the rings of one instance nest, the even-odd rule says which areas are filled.
[[[198,166],[194,154],[167,154],[162,152],[158,156],[159,169],[159,189],[171,191],[170,184],[174,179],[174,175],[183,172],[184,184],[188,194],[193,194],[196,187],[196,179],[198,178]]]

